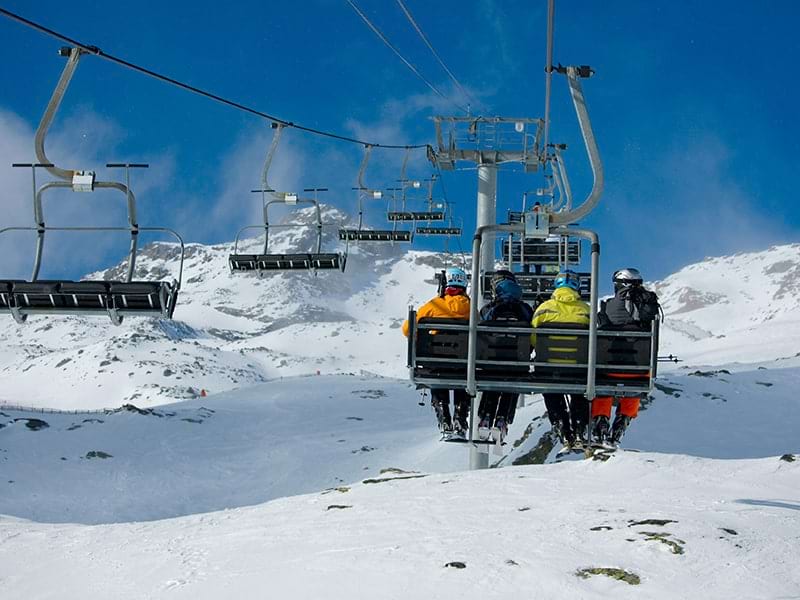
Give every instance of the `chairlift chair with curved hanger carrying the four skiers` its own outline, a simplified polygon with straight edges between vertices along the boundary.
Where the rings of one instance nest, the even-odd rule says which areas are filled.
[[[571,210],[553,212],[542,207],[543,210],[532,209],[525,212],[518,223],[478,227],[473,239],[472,271],[479,272],[484,237],[495,233],[519,234],[523,243],[528,239],[545,240],[552,235],[585,239],[591,245],[589,326],[578,330],[554,324],[553,327],[531,330],[528,327],[479,324],[478,302],[471,303],[468,324],[454,321],[431,324],[421,320],[415,326],[415,314],[410,309],[408,365],[411,380],[420,387],[462,388],[473,398],[478,392],[489,390],[580,393],[592,399],[598,395],[638,395],[652,389],[658,363],[658,321],[654,321],[650,331],[645,332],[598,331],[599,239],[592,231],[569,227],[570,224],[582,220],[597,206],[603,191],[602,163],[579,82],[579,77],[588,77],[593,71],[589,67],[561,66],[554,67],[553,70],[567,76],[594,176],[592,190],[583,204]],[[457,158],[453,152],[448,156],[453,161]],[[479,280],[480,278],[473,279],[473,287]],[[476,292],[477,290],[473,290],[473,296]],[[423,328],[426,331],[434,329],[437,334],[423,335]],[[454,339],[446,339],[449,336],[446,334],[448,330],[454,332]],[[536,334],[536,358],[533,362],[529,357],[530,347],[527,343],[531,333]],[[498,337],[500,349],[493,349],[494,337]],[[509,339],[516,338],[521,338],[522,341],[508,343]],[[583,339],[586,340],[585,347],[579,341]],[[564,348],[571,351],[568,361],[564,361]],[[487,366],[492,368],[487,369]],[[506,372],[502,372],[503,369]],[[498,370],[501,371],[499,375]],[[628,372],[633,377],[619,378],[619,374],[623,372]],[[473,411],[470,414],[473,438],[477,432],[474,418],[476,406],[476,401],[473,400]]]

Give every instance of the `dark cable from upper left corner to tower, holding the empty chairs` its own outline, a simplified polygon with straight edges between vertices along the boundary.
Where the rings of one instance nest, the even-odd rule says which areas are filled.
[[[23,17],[21,15],[18,15],[16,13],[13,13],[13,12],[9,11],[9,10],[6,10],[5,8],[0,7],[0,15],[8,17],[9,19],[12,19],[14,21],[17,21],[18,23],[21,23],[21,24],[23,24],[23,25],[25,25],[27,27],[35,29],[36,31],[39,31],[40,33],[44,33],[45,35],[49,35],[50,37],[56,38],[58,40],[61,40],[62,42],[66,42],[67,44],[70,44],[71,46],[75,46],[77,48],[80,48],[81,50],[83,50],[87,54],[93,54],[94,56],[99,56],[100,58],[104,58],[104,59],[106,59],[108,61],[116,63],[116,64],[118,64],[118,65],[120,65],[122,67],[125,67],[127,69],[131,69],[131,70],[137,71],[138,73],[141,73],[143,75],[147,75],[148,77],[152,77],[154,79],[158,79],[159,81],[163,81],[165,83],[169,83],[170,85],[174,85],[176,87],[184,89],[184,90],[186,90],[188,92],[191,92],[193,94],[197,94],[199,96],[203,96],[203,97],[208,98],[210,100],[214,100],[215,102],[219,102],[221,104],[225,104],[225,105],[230,106],[232,108],[235,108],[237,110],[241,110],[243,112],[250,113],[250,114],[255,115],[257,117],[261,117],[263,119],[267,119],[267,120],[273,121],[275,123],[284,125],[286,127],[292,127],[294,129],[299,129],[300,131],[305,131],[306,133],[311,133],[313,135],[319,135],[319,136],[322,136],[322,137],[332,138],[332,139],[340,140],[340,141],[343,141],[343,142],[350,142],[350,143],[353,143],[353,144],[360,144],[362,146],[373,146],[375,148],[384,148],[384,149],[390,149],[390,150],[394,150],[394,149],[408,150],[408,149],[428,148],[429,147],[429,144],[378,144],[378,143],[375,143],[375,142],[368,142],[368,141],[365,141],[365,140],[360,140],[358,138],[353,138],[353,137],[349,137],[349,136],[346,136],[346,135],[333,133],[333,132],[330,132],[330,131],[324,131],[322,129],[315,129],[313,127],[306,127],[304,125],[300,125],[298,123],[294,123],[292,121],[287,121],[285,119],[281,119],[281,118],[276,117],[274,115],[270,115],[268,113],[265,113],[263,111],[255,109],[255,108],[252,108],[252,107],[247,106],[245,104],[242,104],[240,102],[236,102],[235,100],[229,100],[228,98],[225,98],[225,97],[220,96],[218,94],[215,94],[213,92],[209,92],[209,91],[204,90],[202,88],[199,88],[197,86],[190,85],[188,83],[184,83],[184,82],[182,82],[182,81],[180,81],[178,79],[175,79],[173,77],[170,77],[168,75],[163,75],[161,73],[158,73],[157,71],[153,71],[152,69],[148,69],[147,67],[142,67],[140,65],[132,63],[132,62],[130,62],[128,60],[125,60],[124,58],[120,58],[118,56],[114,56],[113,54],[109,54],[109,53],[101,50],[97,46],[92,46],[90,44],[84,44],[83,42],[79,42],[79,41],[77,41],[77,40],[75,40],[75,39],[73,39],[71,37],[68,37],[68,36],[66,36],[66,35],[64,35],[62,33],[59,33],[59,32],[57,32],[57,31],[55,31],[53,29],[45,27],[44,25],[36,23],[35,21],[31,21],[30,19],[26,19],[25,17]]]

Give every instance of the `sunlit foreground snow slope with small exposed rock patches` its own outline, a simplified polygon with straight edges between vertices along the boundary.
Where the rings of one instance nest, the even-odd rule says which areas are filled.
[[[5,517],[0,582],[26,600],[797,598],[798,465],[619,453],[151,523]]]

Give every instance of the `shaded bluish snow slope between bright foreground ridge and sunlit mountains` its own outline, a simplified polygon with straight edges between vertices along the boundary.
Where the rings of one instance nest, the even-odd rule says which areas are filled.
[[[800,452],[797,369],[673,374],[625,446],[704,458]],[[438,441],[407,382],[291,377],[152,410],[0,412],[0,514],[108,523],[175,517],[348,485],[382,469],[467,468]],[[498,466],[552,462],[539,397],[528,398]],[[74,482],[80,482],[75,485]],[[31,502],[34,498],[35,501]]]

